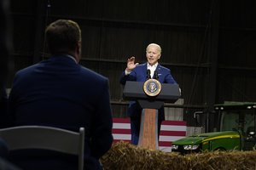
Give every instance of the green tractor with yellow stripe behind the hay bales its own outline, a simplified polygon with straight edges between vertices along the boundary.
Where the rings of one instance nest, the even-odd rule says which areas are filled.
[[[214,105],[214,110],[218,132],[178,139],[172,142],[172,151],[186,154],[204,150],[254,150],[256,103],[229,102]]]

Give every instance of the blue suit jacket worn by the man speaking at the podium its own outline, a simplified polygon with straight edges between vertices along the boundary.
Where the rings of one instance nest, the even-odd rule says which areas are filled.
[[[177,83],[171,75],[170,69],[158,64],[156,67],[156,71],[158,72],[158,80],[161,83]],[[142,65],[137,65],[135,69],[131,71],[131,73],[125,76],[125,71],[122,73],[120,78],[120,83],[125,85],[126,81],[137,81],[137,82],[145,82],[147,80],[147,63]],[[128,116],[140,116],[141,107],[137,104],[136,101],[131,101],[128,107],[127,114]],[[164,109],[160,109],[160,120],[165,120]]]

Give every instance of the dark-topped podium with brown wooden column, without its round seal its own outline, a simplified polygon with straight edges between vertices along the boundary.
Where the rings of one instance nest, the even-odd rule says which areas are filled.
[[[158,150],[158,110],[164,102],[174,103],[180,98],[178,84],[161,83],[160,93],[150,96],[145,92],[145,82],[127,81],[124,99],[136,100],[143,108],[138,146]]]

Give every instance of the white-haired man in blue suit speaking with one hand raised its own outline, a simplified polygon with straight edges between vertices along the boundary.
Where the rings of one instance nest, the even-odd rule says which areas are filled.
[[[135,57],[128,59],[127,67],[122,73],[120,83],[125,85],[126,81],[145,82],[148,78],[156,78],[161,83],[177,83],[172,77],[170,69],[158,63],[160,56],[160,45],[150,43],[146,48],[146,58],[148,59],[148,62],[139,65],[138,63],[135,63]],[[127,114],[131,119],[131,143],[137,144],[140,132],[142,108],[136,101],[131,101]],[[162,107],[159,111],[158,134],[160,134],[160,123],[163,120],[165,120],[165,113],[164,108]]]

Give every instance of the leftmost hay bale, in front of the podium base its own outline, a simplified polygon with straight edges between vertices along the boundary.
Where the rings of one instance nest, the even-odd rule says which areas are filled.
[[[122,141],[113,144],[108,153],[102,156],[101,161],[105,170],[176,170],[177,166],[189,165],[189,161],[178,153],[147,150]]]

